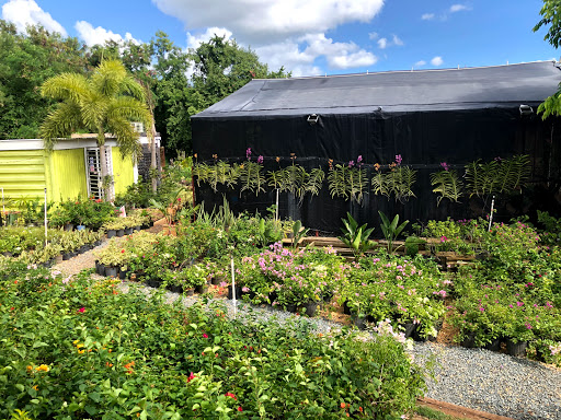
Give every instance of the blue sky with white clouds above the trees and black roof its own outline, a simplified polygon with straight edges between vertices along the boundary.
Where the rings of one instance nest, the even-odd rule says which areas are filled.
[[[559,59],[543,40],[542,0],[0,0],[0,16],[80,38],[181,48],[234,38],[294,77]]]

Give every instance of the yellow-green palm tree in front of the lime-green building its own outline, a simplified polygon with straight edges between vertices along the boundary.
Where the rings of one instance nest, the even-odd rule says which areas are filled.
[[[141,121],[147,128],[152,126],[145,90],[127,74],[121,61],[106,60],[89,78],[78,73],[55,75],[43,84],[41,93],[61,101],[41,126],[45,149],[51,151],[60,138],[68,138],[77,129],[95,132],[103,194],[110,199],[105,132],[115,136],[123,156],[139,156],[141,145],[130,121]]]

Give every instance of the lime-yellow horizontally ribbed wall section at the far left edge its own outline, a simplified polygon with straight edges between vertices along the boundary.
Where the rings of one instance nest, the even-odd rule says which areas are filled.
[[[45,196],[45,152],[43,150],[0,151],[0,187],[11,199]]]

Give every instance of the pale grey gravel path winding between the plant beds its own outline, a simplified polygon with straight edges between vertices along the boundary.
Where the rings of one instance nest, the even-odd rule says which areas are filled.
[[[106,241],[98,248],[106,245]],[[94,267],[93,253],[79,255],[55,266],[65,275],[73,275],[83,268]],[[93,275],[94,278],[99,276]],[[147,295],[154,289],[138,283],[123,282],[119,288],[127,292],[139,287]],[[174,302],[180,295],[165,292],[165,301]],[[190,306],[196,296],[183,296],[183,304]],[[229,315],[233,316],[232,301],[226,302]],[[238,317],[249,313],[259,319],[284,322],[294,314],[270,307],[255,307],[238,303]],[[323,318],[302,318],[318,332],[341,329],[341,325]],[[483,349],[466,349],[433,342],[415,342],[409,351],[420,365],[432,358],[436,361],[434,378],[427,375],[426,397],[455,404],[476,410],[510,417],[516,420],[561,419],[561,370]]]

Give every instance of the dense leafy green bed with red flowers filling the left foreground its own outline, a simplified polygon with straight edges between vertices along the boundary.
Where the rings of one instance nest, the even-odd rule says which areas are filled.
[[[2,264],[2,418],[398,419],[423,388],[387,328],[323,337]]]

